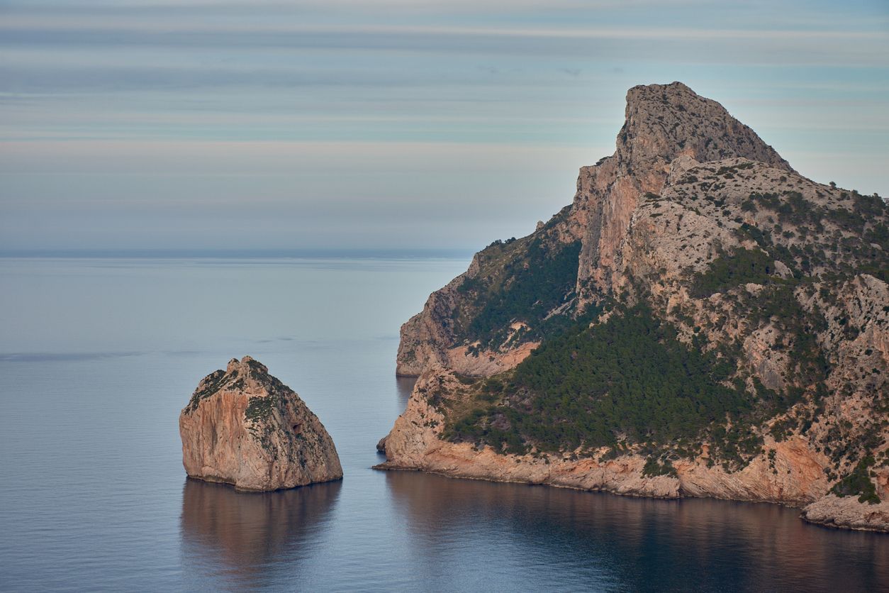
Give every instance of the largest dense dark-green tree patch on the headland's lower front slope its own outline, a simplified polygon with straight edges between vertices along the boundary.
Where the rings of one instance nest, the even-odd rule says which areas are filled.
[[[733,360],[683,344],[672,325],[637,305],[544,343],[515,369],[509,397],[454,421],[445,437],[509,453],[696,439],[749,413],[751,398],[727,386],[734,372]],[[722,437],[733,461],[761,442]]]

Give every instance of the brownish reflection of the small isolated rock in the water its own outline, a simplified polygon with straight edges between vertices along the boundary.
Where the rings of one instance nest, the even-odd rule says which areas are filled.
[[[182,490],[183,565],[206,586],[268,584],[276,565],[310,554],[340,495],[341,481],[273,493],[238,493],[228,485],[187,479]],[[282,560],[286,562],[282,563]],[[187,575],[188,577],[189,575]]]

